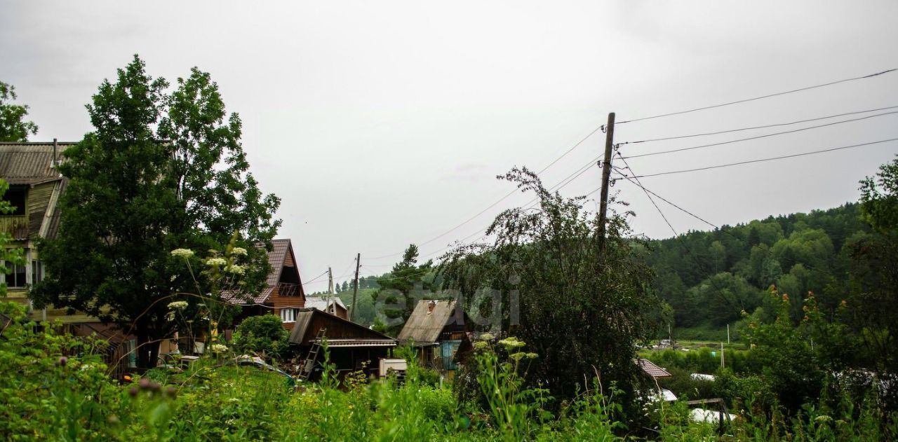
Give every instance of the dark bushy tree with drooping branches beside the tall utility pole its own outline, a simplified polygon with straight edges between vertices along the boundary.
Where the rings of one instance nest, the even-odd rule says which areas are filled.
[[[492,244],[450,253],[445,286],[461,290],[475,317],[492,318],[481,326],[501,325],[538,353],[528,375],[555,397],[574,397],[596,374],[632,393],[636,344],[653,336],[660,311],[641,241],[629,238],[624,215],[613,214],[601,247],[585,198],[552,194],[527,169],[504,178],[539,204],[500,213],[488,230]]]

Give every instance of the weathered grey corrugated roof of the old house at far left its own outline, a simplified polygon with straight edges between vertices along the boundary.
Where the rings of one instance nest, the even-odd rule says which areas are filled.
[[[57,159],[75,143],[57,143]],[[53,167],[53,143],[0,143],[0,178],[9,184],[35,184],[60,178]]]

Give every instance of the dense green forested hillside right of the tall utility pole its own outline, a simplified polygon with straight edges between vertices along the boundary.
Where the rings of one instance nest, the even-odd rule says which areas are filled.
[[[808,291],[832,311],[846,296],[851,245],[869,231],[858,204],[845,204],[653,240],[648,259],[674,327],[721,330],[743,310],[770,316],[771,284],[789,294],[795,318]]]

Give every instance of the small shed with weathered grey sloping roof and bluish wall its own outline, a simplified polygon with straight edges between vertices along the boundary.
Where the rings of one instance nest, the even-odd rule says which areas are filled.
[[[418,348],[427,368],[455,370],[455,353],[468,339],[464,314],[455,299],[421,300],[397,337]]]

